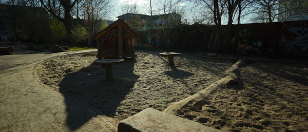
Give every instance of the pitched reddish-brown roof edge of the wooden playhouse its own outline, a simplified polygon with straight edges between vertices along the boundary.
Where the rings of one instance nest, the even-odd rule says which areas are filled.
[[[113,29],[115,26],[120,24],[132,37],[138,38],[138,36],[132,31],[132,29],[123,21],[123,20],[117,20],[108,27],[106,27],[104,30],[102,30],[100,33],[94,36],[94,39],[98,39],[101,35],[105,34],[109,30]]]

